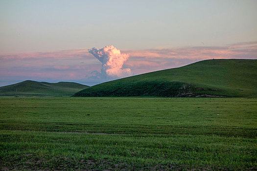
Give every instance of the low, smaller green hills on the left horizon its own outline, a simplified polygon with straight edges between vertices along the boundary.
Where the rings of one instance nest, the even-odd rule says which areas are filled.
[[[0,87],[0,96],[70,96],[89,86],[72,82],[23,81]]]

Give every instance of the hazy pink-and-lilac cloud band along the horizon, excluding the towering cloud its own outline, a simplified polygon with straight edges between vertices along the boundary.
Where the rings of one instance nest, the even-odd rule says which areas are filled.
[[[96,78],[102,64],[87,50],[9,53],[0,55],[0,86],[24,80],[71,81],[95,85],[110,78]],[[130,57],[123,67],[133,75],[180,67],[207,59],[257,59],[257,42],[226,46],[177,47],[146,50],[121,50]],[[121,78],[122,75],[119,76]]]

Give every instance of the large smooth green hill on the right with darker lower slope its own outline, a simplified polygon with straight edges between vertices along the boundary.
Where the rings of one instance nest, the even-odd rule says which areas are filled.
[[[205,60],[94,85],[73,96],[257,97],[257,60]]]

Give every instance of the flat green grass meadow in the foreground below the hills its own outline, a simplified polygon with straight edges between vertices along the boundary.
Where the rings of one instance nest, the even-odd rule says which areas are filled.
[[[257,99],[0,97],[0,168],[257,170]]]

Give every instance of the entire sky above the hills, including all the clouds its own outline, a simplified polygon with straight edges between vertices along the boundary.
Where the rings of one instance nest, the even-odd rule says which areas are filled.
[[[0,86],[257,59],[256,9],[257,0],[0,0]]]

